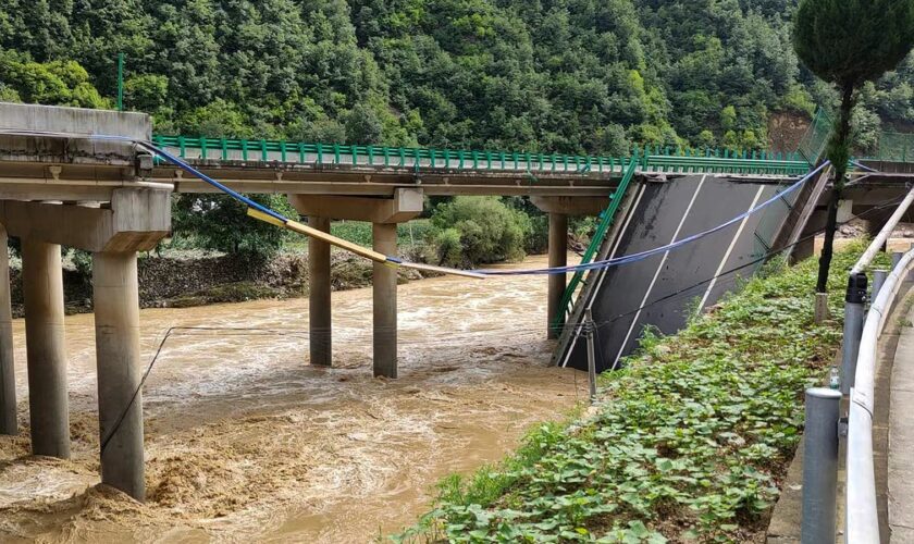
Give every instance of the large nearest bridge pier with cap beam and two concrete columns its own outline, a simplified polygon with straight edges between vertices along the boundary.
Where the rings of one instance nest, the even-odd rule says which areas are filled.
[[[4,200],[0,223],[23,240],[33,452],[70,456],[60,252],[65,245],[92,252],[101,481],[143,500],[136,252],[155,248],[168,234],[171,191],[119,188],[110,198],[102,207]]]

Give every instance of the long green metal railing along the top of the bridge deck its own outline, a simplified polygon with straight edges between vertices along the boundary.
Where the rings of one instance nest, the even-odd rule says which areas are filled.
[[[470,151],[434,148],[348,146],[267,139],[162,136],[153,143],[183,159],[262,161],[316,165],[445,168],[522,172],[621,173],[632,162],[647,172],[720,172],[745,174],[805,173],[808,163],[796,153],[634,148],[630,157],[592,157],[518,151]]]

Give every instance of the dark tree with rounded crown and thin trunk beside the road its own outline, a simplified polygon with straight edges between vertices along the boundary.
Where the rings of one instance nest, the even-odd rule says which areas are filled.
[[[825,293],[838,223],[838,201],[850,159],[851,110],[863,83],[893,69],[914,46],[914,2],[910,0],[801,0],[793,47],[817,76],[838,87],[841,108],[828,143],[835,190],[828,202],[825,246],[816,292]]]

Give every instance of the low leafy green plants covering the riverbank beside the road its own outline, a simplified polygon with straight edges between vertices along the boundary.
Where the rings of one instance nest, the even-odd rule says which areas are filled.
[[[831,316],[862,246],[836,255]],[[440,484],[400,542],[731,542],[767,526],[803,429],[803,391],[840,321],[812,321],[816,261],[769,267],[675,336],[647,334],[601,376],[588,417],[545,423],[512,456]]]

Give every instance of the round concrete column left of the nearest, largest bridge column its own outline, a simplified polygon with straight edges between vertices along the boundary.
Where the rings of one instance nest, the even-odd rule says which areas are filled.
[[[60,246],[22,240],[32,453],[70,458]]]

